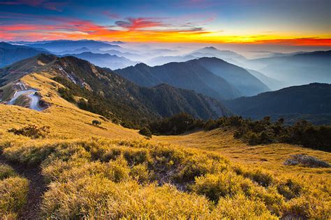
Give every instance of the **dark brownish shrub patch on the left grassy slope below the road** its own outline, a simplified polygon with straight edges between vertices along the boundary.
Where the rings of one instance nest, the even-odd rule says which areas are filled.
[[[50,133],[49,129],[50,127],[48,126],[37,127],[36,125],[27,125],[26,127],[22,127],[20,129],[8,129],[8,132],[12,132],[16,135],[29,136],[32,139],[38,139],[45,138],[45,136]]]

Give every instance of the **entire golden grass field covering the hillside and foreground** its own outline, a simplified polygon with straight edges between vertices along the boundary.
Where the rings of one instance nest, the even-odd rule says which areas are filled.
[[[66,102],[50,77],[22,79],[50,103],[44,111],[0,104],[0,162],[19,173],[1,179],[1,218],[330,218],[331,168],[283,164],[299,153],[331,163],[330,153],[288,144],[248,146],[231,129],[147,140]],[[47,126],[49,133],[34,139],[8,132],[27,125]],[[43,181],[24,174],[24,164],[40,168],[32,176]],[[9,171],[15,173],[0,165],[0,176]],[[22,184],[10,181],[11,175]],[[43,190],[31,209],[36,184]],[[13,187],[17,194],[8,192]],[[10,202],[15,200],[18,205]]]

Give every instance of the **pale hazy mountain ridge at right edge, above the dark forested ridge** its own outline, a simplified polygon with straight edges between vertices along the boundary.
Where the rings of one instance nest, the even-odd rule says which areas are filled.
[[[331,50],[258,58],[248,60],[244,65],[283,81],[286,86],[331,83]]]

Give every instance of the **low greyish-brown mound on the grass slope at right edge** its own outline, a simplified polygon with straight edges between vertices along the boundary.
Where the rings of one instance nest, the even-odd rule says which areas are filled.
[[[284,162],[285,165],[295,166],[307,166],[307,167],[331,167],[328,162],[325,162],[321,159],[309,155],[291,155],[290,159],[286,159]]]

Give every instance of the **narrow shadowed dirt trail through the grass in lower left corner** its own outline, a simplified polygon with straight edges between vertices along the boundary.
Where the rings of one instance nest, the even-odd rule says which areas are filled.
[[[13,167],[16,173],[29,180],[27,204],[23,207],[20,219],[39,219],[42,196],[46,190],[40,166],[9,162],[3,155],[0,155],[0,163]]]

